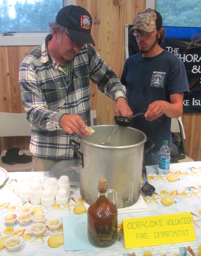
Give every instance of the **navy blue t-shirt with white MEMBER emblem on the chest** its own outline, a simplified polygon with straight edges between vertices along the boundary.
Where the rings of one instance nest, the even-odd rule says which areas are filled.
[[[150,58],[144,58],[141,53],[130,56],[126,59],[120,81],[126,86],[133,115],[146,112],[149,104],[156,100],[170,103],[171,94],[189,92],[182,60],[166,50]],[[161,123],[157,120],[147,121],[144,115],[140,115],[130,125],[155,142],[154,150],[160,150],[163,140],[168,140],[169,146],[172,145],[171,118],[163,114],[158,119]]]

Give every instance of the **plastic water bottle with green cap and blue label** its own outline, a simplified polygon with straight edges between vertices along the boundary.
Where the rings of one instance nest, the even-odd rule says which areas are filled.
[[[170,148],[167,140],[163,141],[163,146],[160,149],[159,172],[161,174],[168,174],[170,172]]]

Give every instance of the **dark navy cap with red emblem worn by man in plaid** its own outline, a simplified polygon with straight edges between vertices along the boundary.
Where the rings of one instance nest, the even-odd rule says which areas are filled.
[[[92,18],[84,8],[67,5],[58,12],[56,22],[67,28],[73,41],[79,44],[95,45],[91,36]]]

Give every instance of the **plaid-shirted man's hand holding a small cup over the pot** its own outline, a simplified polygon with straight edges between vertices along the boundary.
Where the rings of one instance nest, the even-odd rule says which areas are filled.
[[[84,129],[86,124],[79,115],[63,115],[60,119],[60,126],[69,134],[72,134],[74,131],[80,136],[89,135],[88,131]]]

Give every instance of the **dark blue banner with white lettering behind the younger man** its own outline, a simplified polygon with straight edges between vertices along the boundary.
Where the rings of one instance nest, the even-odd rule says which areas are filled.
[[[128,31],[133,25],[128,26]],[[163,27],[166,31],[163,49],[177,55],[186,68],[189,93],[184,94],[183,112],[201,112],[201,28]],[[138,53],[135,36],[128,34],[128,55]]]

